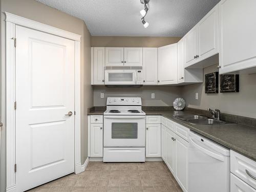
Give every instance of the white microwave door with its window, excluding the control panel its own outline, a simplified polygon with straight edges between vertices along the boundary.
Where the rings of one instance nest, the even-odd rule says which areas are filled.
[[[136,70],[105,70],[105,84],[136,84]]]

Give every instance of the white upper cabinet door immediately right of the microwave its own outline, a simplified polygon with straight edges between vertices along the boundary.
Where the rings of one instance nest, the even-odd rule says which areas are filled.
[[[143,48],[143,84],[157,84],[157,48]]]

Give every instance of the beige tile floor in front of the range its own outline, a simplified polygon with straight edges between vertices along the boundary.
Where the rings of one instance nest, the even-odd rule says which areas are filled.
[[[29,192],[182,192],[163,161],[145,163],[90,162],[81,174],[71,174]]]

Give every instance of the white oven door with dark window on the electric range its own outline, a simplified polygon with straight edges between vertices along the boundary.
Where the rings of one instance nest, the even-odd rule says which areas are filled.
[[[104,147],[144,147],[145,116],[105,115]]]

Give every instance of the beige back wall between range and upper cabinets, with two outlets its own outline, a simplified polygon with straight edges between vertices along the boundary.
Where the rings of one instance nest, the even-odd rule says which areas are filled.
[[[175,98],[181,95],[180,86],[143,86],[140,88],[106,88],[94,86],[94,106],[105,106],[107,97],[141,97],[143,106],[172,106]],[[100,98],[100,93],[104,98]],[[155,99],[151,98],[155,93]]]

